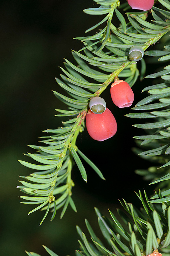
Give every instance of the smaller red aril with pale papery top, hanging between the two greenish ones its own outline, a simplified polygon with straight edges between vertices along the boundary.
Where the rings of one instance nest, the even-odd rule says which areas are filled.
[[[116,80],[110,88],[113,103],[119,108],[130,107],[134,101],[134,93],[128,83]]]

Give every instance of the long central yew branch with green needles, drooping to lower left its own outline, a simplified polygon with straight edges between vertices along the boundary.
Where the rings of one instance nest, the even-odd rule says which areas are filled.
[[[85,127],[84,119],[90,98],[99,96],[117,76],[125,78],[125,81],[133,86],[139,76],[139,70],[137,64],[128,58],[129,48],[139,45],[146,50],[169,31],[167,20],[169,11],[160,9],[161,12],[156,9],[154,14],[152,13],[155,23],[160,19],[163,22],[166,18],[167,25],[164,23],[157,25],[153,21],[147,21],[147,12],[127,13],[129,22],[126,24],[123,15],[117,9],[119,1],[94,1],[100,7],[86,9],[85,12],[93,15],[107,15],[86,32],[104,26],[105,22],[106,26],[102,32],[99,31],[94,36],[77,38],[82,40],[84,47],[80,50],[81,52],[73,51],[76,64],[65,59],[65,69],[61,68],[64,75],[61,74],[61,79],[56,78],[58,85],[64,89],[67,96],[53,91],[58,99],[68,105],[68,110],[56,109],[60,113],[56,116],[68,116],[72,119],[63,122],[63,127],[45,130],[47,136],[41,137],[40,141],[43,146],[29,145],[36,150],[36,153],[26,155],[38,164],[20,161],[24,166],[36,170],[29,176],[22,176],[27,181],[21,180],[22,185],[18,187],[29,195],[21,196],[26,200],[22,203],[39,204],[29,213],[39,209],[46,210],[42,221],[50,209],[53,211],[51,220],[55,217],[57,209],[61,207],[63,207],[62,218],[69,204],[76,211],[71,197],[74,186],[71,171],[74,162],[85,181],[87,181],[87,174],[82,163],[84,160],[104,179],[100,170],[76,146],[77,136]],[[163,2],[167,6],[167,1]],[[161,17],[159,13],[156,14],[158,11]],[[111,22],[114,14],[120,22],[119,28]],[[143,60],[141,64],[144,75]]]

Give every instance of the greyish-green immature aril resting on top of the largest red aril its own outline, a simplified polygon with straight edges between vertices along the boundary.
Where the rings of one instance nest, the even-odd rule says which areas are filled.
[[[102,114],[106,110],[106,102],[101,97],[93,97],[89,102],[89,108],[94,114]]]

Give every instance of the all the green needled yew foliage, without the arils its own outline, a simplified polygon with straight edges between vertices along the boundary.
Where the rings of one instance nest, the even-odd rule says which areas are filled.
[[[147,50],[156,44],[170,30],[170,1],[158,0],[151,11],[134,12],[128,3],[120,4],[116,0],[93,0],[97,3],[94,8],[85,9],[90,15],[102,15],[101,21],[86,30],[86,33],[97,29],[94,34],[77,37],[84,46],[79,51],[73,51],[76,64],[65,60],[65,69],[61,79],[56,78],[58,85],[65,94],[54,91],[54,95],[68,105],[67,110],[56,109],[56,116],[68,116],[69,120],[63,127],[47,129],[47,136],[41,137],[43,146],[29,145],[36,150],[34,154],[26,154],[38,164],[20,161],[21,164],[36,170],[31,175],[23,177],[22,192],[28,196],[20,196],[26,200],[24,204],[39,204],[31,210],[46,210],[44,218],[51,209],[55,217],[56,211],[62,208],[61,218],[70,204],[76,211],[72,199],[74,182],[71,172],[74,163],[77,164],[82,178],[87,182],[87,174],[83,161],[87,162],[94,171],[104,179],[101,171],[88,159],[76,146],[76,139],[85,129],[85,116],[89,109],[89,100],[99,96],[114,81],[115,77],[125,80],[131,87],[138,77],[143,80],[146,71],[144,59],[140,60],[141,70],[136,62],[129,60],[128,52],[132,46],[141,46],[144,54],[150,56],[154,62],[169,61],[170,40],[163,50]],[[128,10],[122,14],[122,8]],[[105,16],[104,16],[105,15]],[[104,18],[103,18],[104,17]],[[120,26],[112,23],[118,19]],[[101,29],[102,27],[102,29]],[[98,32],[99,31],[99,32]],[[169,44],[169,45],[168,45]],[[147,51],[146,51],[147,50]],[[164,63],[164,62],[163,62]],[[96,208],[98,224],[107,245],[99,240],[90,223],[86,226],[91,236],[89,242],[85,234],[77,227],[80,250],[76,251],[81,256],[100,255],[149,255],[153,250],[168,253],[166,248],[170,244],[170,65],[163,65],[160,71],[147,75],[146,79],[153,79],[153,85],[143,89],[144,98],[134,108],[133,113],[126,116],[143,119],[142,123],[134,124],[135,127],[145,129],[147,135],[135,136],[138,147],[136,154],[157,164],[148,170],[136,172],[150,184],[159,182],[159,190],[150,199],[144,191],[144,197],[139,191],[137,197],[141,200],[143,208],[137,209],[125,200],[120,202],[127,214],[118,209],[121,222],[110,211],[111,219],[104,217]],[[154,80],[155,79],[155,80]],[[147,93],[146,93],[147,92]],[[148,94],[150,94],[148,96]],[[49,135],[50,134],[50,135]],[[43,165],[42,165],[43,164]],[[159,168],[157,168],[159,167]],[[160,183],[161,182],[161,183]],[[40,223],[40,224],[41,224]],[[51,256],[54,252],[44,246]],[[27,252],[28,255],[38,256],[36,253]]]

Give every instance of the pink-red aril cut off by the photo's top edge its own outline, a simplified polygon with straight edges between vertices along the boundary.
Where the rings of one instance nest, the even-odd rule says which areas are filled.
[[[154,0],[128,0],[132,9],[147,11],[154,5]]]

